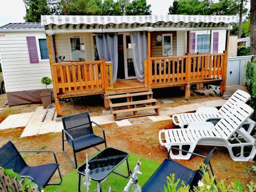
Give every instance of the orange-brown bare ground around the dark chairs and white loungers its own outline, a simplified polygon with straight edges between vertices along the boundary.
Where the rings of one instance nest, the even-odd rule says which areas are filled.
[[[131,152],[141,157],[153,159],[162,162],[167,158],[165,147],[160,146],[158,141],[158,132],[162,129],[173,129],[175,125],[172,120],[143,123],[131,126],[118,127],[116,123],[103,125],[106,134],[107,145],[121,150]],[[53,150],[56,153],[60,164],[62,174],[67,174],[73,170],[68,159],[62,154],[61,149],[61,133],[51,133],[46,135],[38,135],[33,137],[20,138],[24,128],[9,129],[0,131],[0,146],[11,140],[14,142],[18,150]],[[95,133],[101,135],[102,132],[94,128]],[[67,153],[72,155],[72,148],[65,144]],[[101,145],[100,147],[104,147]],[[195,152],[207,155],[212,146],[196,147]],[[85,154],[89,156],[97,153],[95,148],[79,152],[77,154],[78,163],[85,160]],[[48,154],[25,154],[24,158],[30,165],[38,165],[43,163],[53,162],[53,158],[49,158]],[[202,162],[202,158],[192,156],[190,160],[177,160],[178,162],[197,169]],[[237,179],[240,183],[248,183],[256,181],[256,175],[248,173],[246,167],[251,167],[253,162],[235,162],[232,161],[225,147],[217,147],[214,155],[211,158],[211,164],[217,181],[224,180],[229,183]],[[146,166],[145,164],[143,166]],[[55,176],[54,178],[57,178]]]

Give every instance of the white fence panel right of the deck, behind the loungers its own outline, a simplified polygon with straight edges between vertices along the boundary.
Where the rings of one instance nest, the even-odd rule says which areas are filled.
[[[253,55],[228,57],[226,86],[245,84],[246,63],[251,61]]]

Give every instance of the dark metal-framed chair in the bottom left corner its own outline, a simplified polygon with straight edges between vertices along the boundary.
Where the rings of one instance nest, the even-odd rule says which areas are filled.
[[[33,152],[33,153],[52,153],[56,163],[50,163],[39,166],[28,166],[20,153]],[[0,148],[0,166],[10,168],[18,173],[22,178],[28,177],[40,187],[46,185],[59,185],[62,182],[62,177],[59,171],[59,164],[57,158],[52,151],[18,151],[14,144],[9,141]],[[60,182],[49,183],[50,179],[58,169]]]

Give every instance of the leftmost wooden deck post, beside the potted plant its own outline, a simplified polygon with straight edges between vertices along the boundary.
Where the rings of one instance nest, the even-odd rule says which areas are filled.
[[[58,79],[56,79],[56,81],[55,81],[55,76],[53,73],[53,58],[52,58],[52,47],[51,47],[51,42],[50,42],[50,36],[47,35],[46,38],[47,38],[49,61],[50,61],[50,68],[51,68],[51,74],[52,74],[52,84],[53,84],[53,93],[54,93],[56,113],[57,113],[57,116],[61,116],[60,104],[59,104],[59,99],[58,99],[57,90],[56,90],[56,81],[58,81]]]

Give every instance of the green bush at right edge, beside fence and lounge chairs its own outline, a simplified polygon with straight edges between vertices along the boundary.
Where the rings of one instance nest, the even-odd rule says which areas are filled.
[[[251,95],[249,104],[253,109],[256,109],[256,63],[247,62],[245,73],[245,85]],[[256,120],[256,114],[252,115],[252,119]]]

